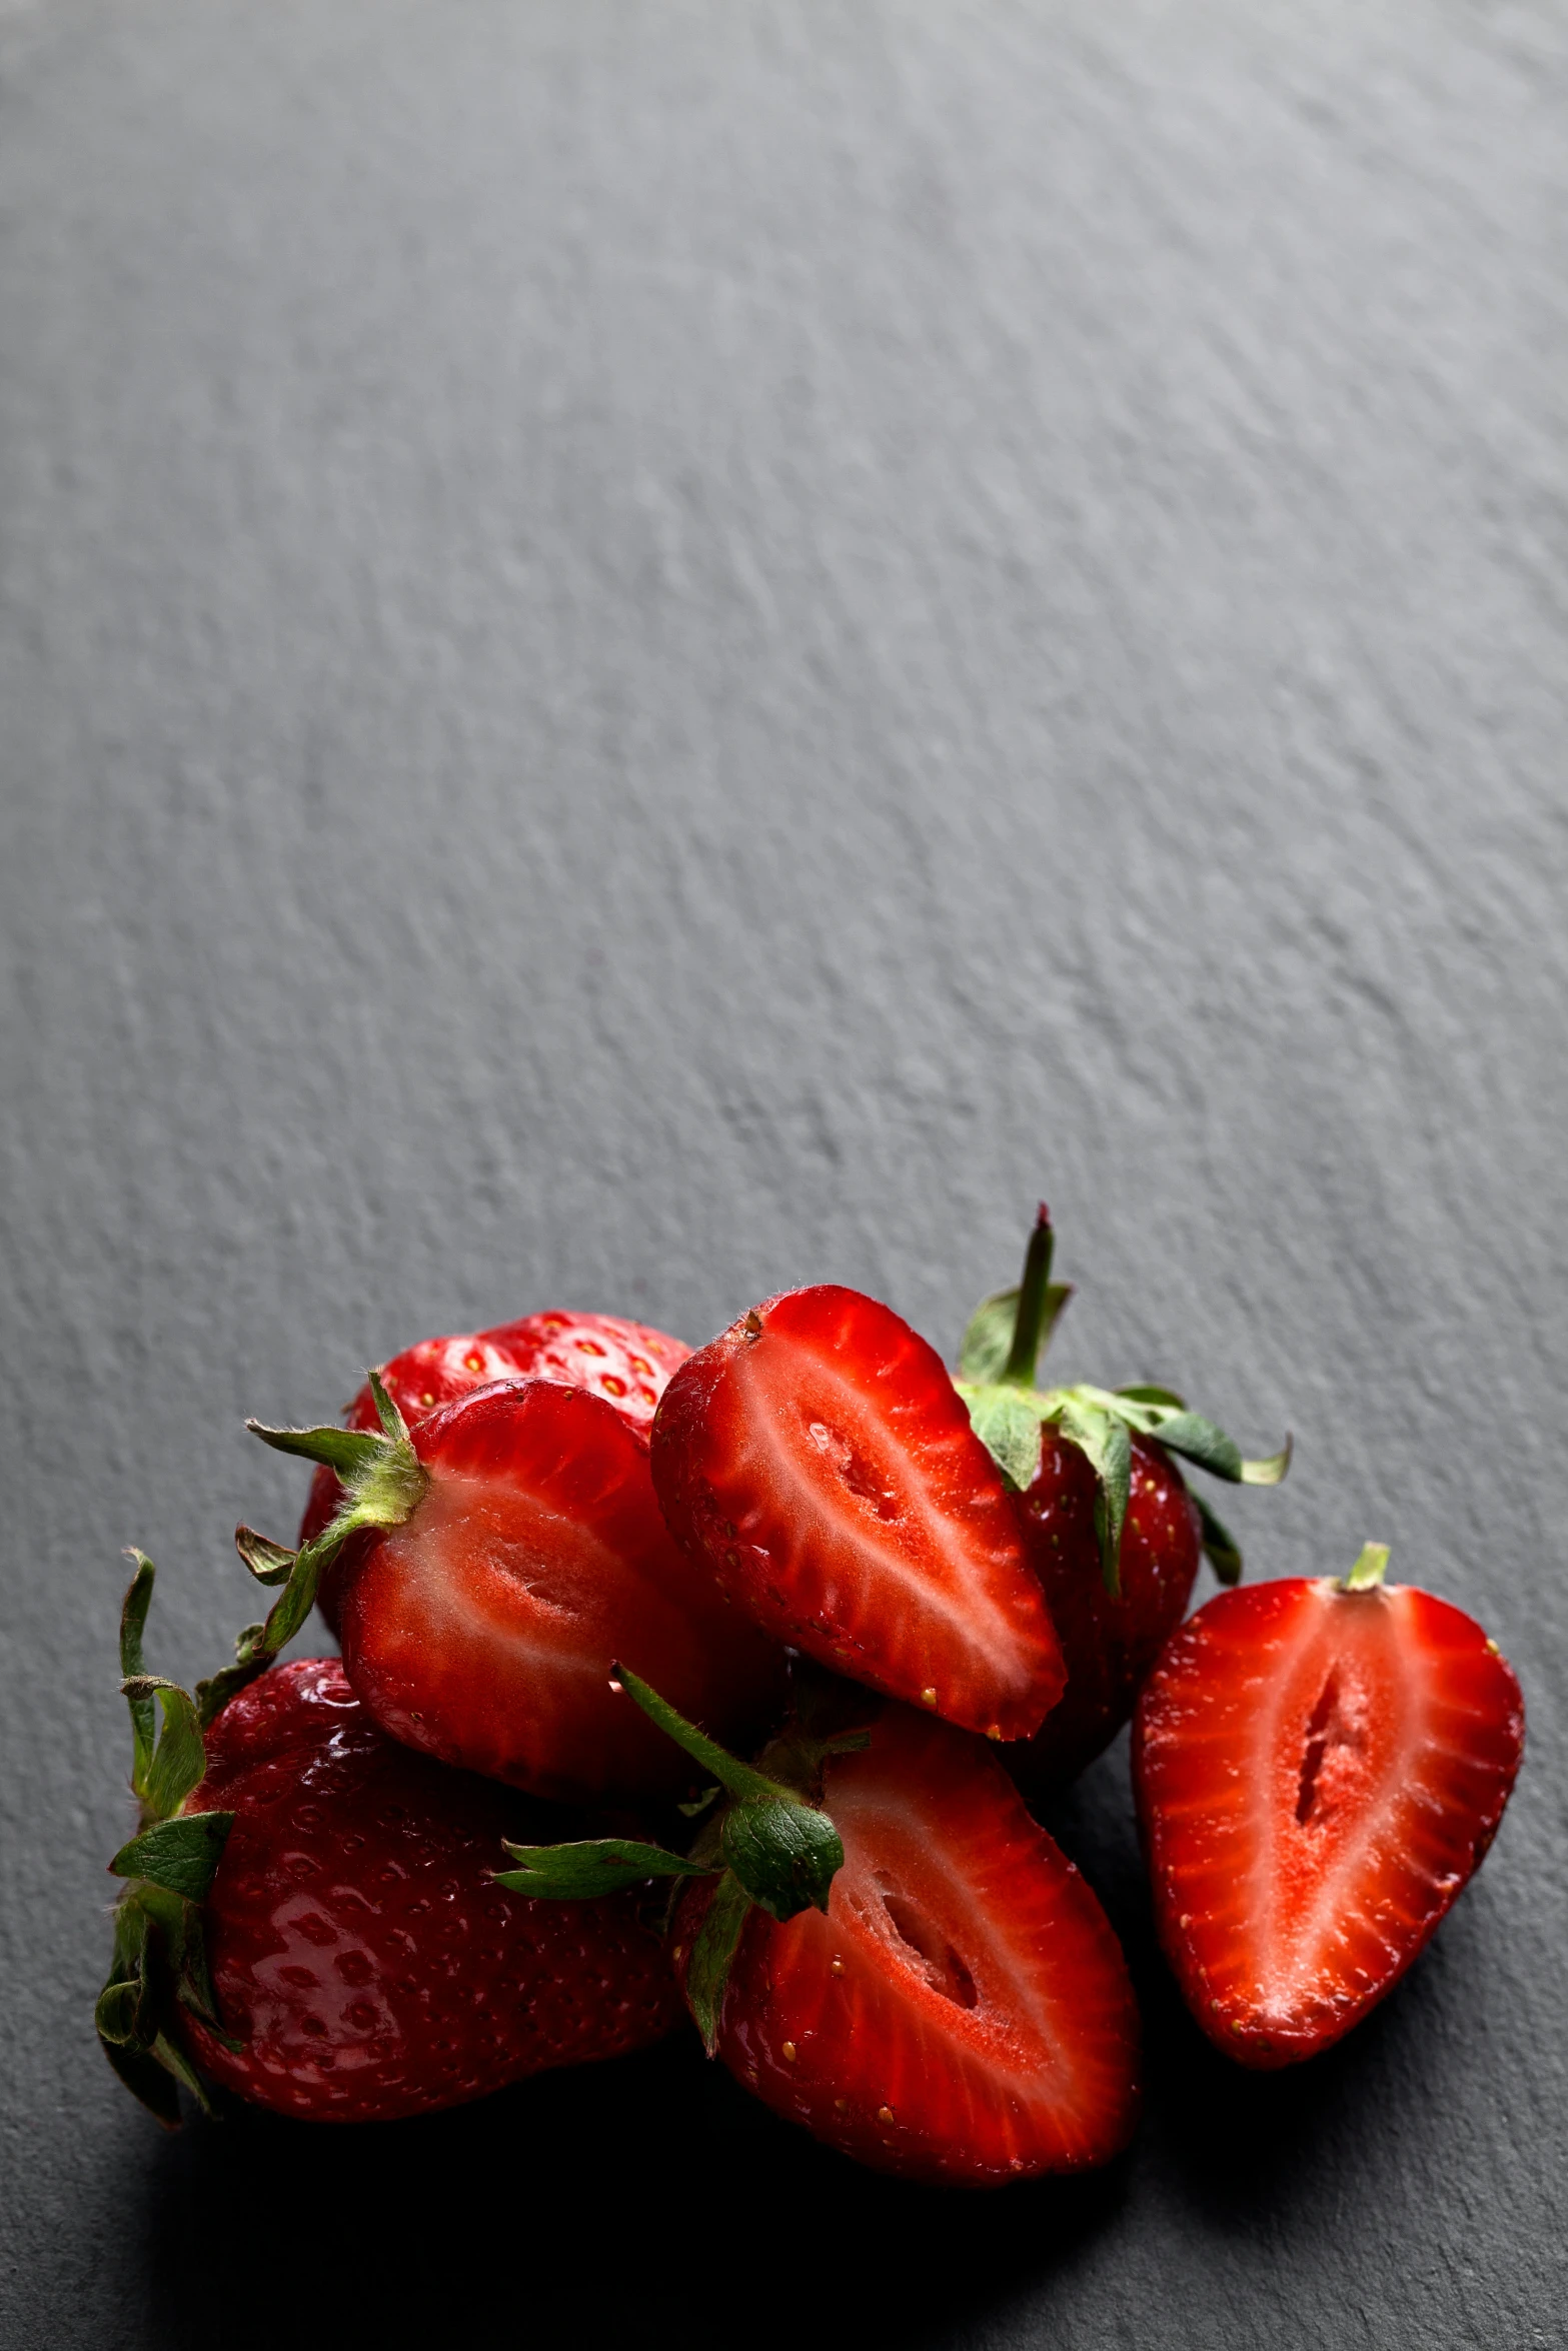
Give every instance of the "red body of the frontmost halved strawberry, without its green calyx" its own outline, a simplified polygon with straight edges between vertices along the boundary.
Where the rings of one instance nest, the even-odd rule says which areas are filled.
[[[985,1744],[884,1707],[832,1759],[844,1838],[827,1914],[748,1914],[719,2057],[875,2170],[999,2186],[1105,2163],[1138,2114],[1138,2008],[1079,1871]],[[675,1963],[712,1900],[675,1918]]]

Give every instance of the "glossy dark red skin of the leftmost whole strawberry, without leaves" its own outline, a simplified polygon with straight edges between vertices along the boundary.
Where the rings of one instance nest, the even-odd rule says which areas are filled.
[[[233,1810],[205,1909],[230,2036],[197,2067],[313,2121],[451,2106],[545,2067],[661,2041],[679,1991],[635,1893],[531,1902],[494,1886],[536,1806],[395,1744],[336,1657],[249,1683],[207,1735],[193,1810]]]

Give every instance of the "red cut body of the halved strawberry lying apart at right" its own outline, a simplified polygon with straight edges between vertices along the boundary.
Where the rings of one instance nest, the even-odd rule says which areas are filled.
[[[1481,1627],[1410,1585],[1222,1592],[1133,1723],[1166,1958],[1208,2038],[1284,2067],[1394,1989],[1493,1841],[1523,1751]]]

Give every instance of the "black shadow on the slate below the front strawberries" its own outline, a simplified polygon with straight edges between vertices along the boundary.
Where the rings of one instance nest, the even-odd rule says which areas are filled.
[[[879,2179],[776,2121],[682,2036],[416,2123],[235,2111],[150,2165],[169,2346],[917,2344],[976,2323],[1126,2193]]]

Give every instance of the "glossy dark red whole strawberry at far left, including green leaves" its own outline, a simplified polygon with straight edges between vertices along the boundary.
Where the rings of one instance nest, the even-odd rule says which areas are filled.
[[[179,2081],[388,2121],[675,2027],[635,1893],[562,1907],[494,1883],[496,1843],[538,1834],[543,1806],[388,1740],[336,1657],[282,1665],[212,1716],[141,1674],[150,1587],[143,1561],[122,1643],[143,1831],[110,1862],[132,1883],[99,2029],[162,2121]]]

